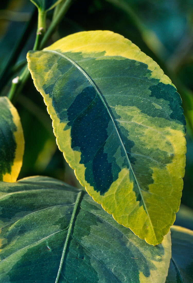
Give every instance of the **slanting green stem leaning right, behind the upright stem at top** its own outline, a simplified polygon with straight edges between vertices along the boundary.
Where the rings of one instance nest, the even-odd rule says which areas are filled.
[[[65,0],[63,5],[60,4],[60,9],[56,7],[56,12],[54,13],[54,17],[52,19],[52,22],[50,23],[50,26],[48,27],[48,30],[46,31],[44,37],[42,38],[42,41],[40,43],[40,49],[43,49],[46,45],[46,42],[51,37],[53,32],[55,31],[56,26],[59,24],[63,16],[68,11],[68,8],[70,7],[72,0]]]

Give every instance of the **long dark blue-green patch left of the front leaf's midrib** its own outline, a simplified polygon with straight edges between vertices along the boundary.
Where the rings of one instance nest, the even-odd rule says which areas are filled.
[[[107,133],[108,125],[112,123],[110,116],[93,86],[83,89],[67,112],[70,121],[68,125],[71,126],[71,146],[81,152],[80,163],[86,167],[85,180],[103,194],[121,171],[115,163],[112,174],[111,162],[108,162],[107,153],[104,152],[104,146],[112,135],[108,136]]]

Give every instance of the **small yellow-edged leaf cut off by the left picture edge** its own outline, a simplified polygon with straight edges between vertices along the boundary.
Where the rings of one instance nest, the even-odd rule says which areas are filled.
[[[23,130],[16,108],[0,97],[0,181],[15,182],[22,167]]]

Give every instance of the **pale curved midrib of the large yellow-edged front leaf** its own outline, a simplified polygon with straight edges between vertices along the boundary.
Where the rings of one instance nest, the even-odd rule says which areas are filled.
[[[149,222],[150,222],[150,224],[151,224],[151,226],[152,226],[155,239],[157,240],[156,235],[155,235],[155,231],[154,231],[154,228],[153,228],[153,224],[152,224],[152,222],[151,222],[151,218],[150,218],[150,216],[149,216],[149,213],[148,213],[148,211],[147,211],[147,207],[146,207],[145,202],[144,202],[144,200],[143,200],[143,195],[142,195],[142,193],[141,193],[141,188],[140,188],[140,186],[139,186],[139,183],[138,183],[138,181],[137,181],[137,178],[136,178],[135,173],[134,173],[134,171],[133,171],[133,168],[132,168],[132,166],[131,166],[131,163],[130,163],[130,160],[129,160],[129,158],[128,158],[126,149],[125,149],[125,147],[124,147],[123,141],[121,140],[121,136],[119,135],[119,132],[118,132],[117,127],[116,127],[116,125],[115,125],[114,119],[113,119],[113,117],[112,117],[110,111],[108,110],[108,106],[107,106],[105,100],[103,99],[102,94],[100,94],[100,91],[99,91],[97,85],[93,82],[93,80],[89,77],[89,75],[88,75],[76,62],[74,62],[74,61],[73,61],[72,59],[70,59],[68,56],[66,56],[66,55],[64,55],[63,53],[60,53],[60,52],[58,52],[58,51],[55,51],[55,50],[45,50],[45,49],[44,49],[44,50],[42,50],[42,52],[55,53],[55,54],[57,54],[57,55],[59,55],[59,56],[65,58],[65,59],[67,59],[68,61],[70,61],[70,63],[72,63],[76,68],[78,68],[78,69],[80,70],[80,72],[82,72],[82,74],[87,78],[87,80],[89,80],[89,82],[91,83],[91,85],[94,87],[96,93],[98,93],[98,95],[99,95],[99,97],[100,97],[102,103],[104,104],[104,106],[105,106],[105,108],[106,108],[106,110],[107,110],[107,112],[108,112],[108,114],[109,114],[109,116],[110,116],[110,119],[111,119],[111,121],[112,121],[112,123],[113,123],[113,126],[114,126],[114,128],[115,128],[115,130],[116,130],[116,132],[117,132],[117,135],[118,135],[119,140],[120,140],[120,142],[121,142],[122,148],[123,148],[123,150],[124,150],[124,152],[125,152],[125,156],[126,156],[126,159],[127,159],[127,161],[128,161],[129,168],[131,169],[131,172],[132,172],[132,175],[133,175],[133,177],[134,177],[134,180],[135,180],[135,182],[136,182],[136,184],[137,184],[137,186],[138,186],[139,193],[140,193],[140,195],[141,195],[141,200],[143,201],[143,205],[144,205],[145,211],[146,211],[147,216],[148,216],[148,218],[149,218]]]

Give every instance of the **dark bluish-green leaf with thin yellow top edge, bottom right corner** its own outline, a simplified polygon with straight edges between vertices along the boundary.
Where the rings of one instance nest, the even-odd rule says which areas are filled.
[[[193,231],[173,225],[171,227],[171,261],[166,283],[193,281]]]

